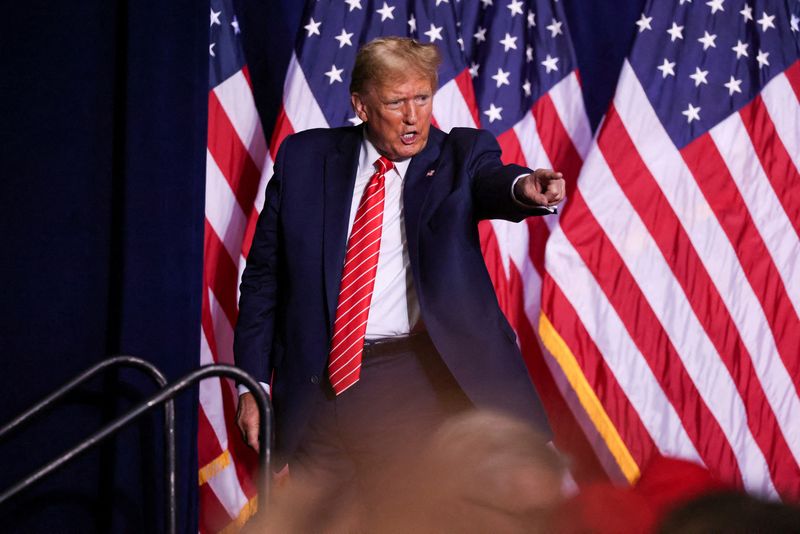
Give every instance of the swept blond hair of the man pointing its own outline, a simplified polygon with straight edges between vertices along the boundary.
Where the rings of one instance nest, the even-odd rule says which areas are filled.
[[[350,79],[350,92],[362,93],[370,83],[386,84],[416,72],[431,82],[431,90],[439,85],[438,70],[442,63],[439,49],[409,37],[378,37],[359,49]]]

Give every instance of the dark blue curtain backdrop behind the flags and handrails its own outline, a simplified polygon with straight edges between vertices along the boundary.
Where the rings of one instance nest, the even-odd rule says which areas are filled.
[[[562,1],[594,126],[644,2]],[[267,129],[302,4],[238,0]],[[208,17],[191,0],[4,7],[0,424],[109,354],[146,358],[169,379],[196,367]],[[0,491],[153,390],[135,373],[109,374],[0,441]],[[187,533],[197,532],[195,397],[177,407]],[[0,531],[161,531],[158,422],[145,418],[0,505]]]

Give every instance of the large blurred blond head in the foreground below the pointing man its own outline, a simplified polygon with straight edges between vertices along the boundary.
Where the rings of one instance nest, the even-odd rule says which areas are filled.
[[[567,472],[532,427],[486,411],[445,422],[400,469],[370,515],[371,532],[546,532]]]

